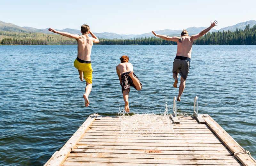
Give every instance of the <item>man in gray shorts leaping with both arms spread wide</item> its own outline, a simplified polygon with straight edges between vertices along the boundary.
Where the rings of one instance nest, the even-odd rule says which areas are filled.
[[[173,69],[172,69],[172,77],[174,78],[173,87],[177,87],[178,85],[178,73],[180,73],[180,87],[179,87],[179,95],[177,97],[177,101],[180,102],[181,94],[185,89],[185,81],[187,79],[189,73],[189,66],[190,66],[190,58],[191,58],[191,51],[192,51],[192,44],[193,41],[198,39],[199,37],[203,36],[207,32],[210,31],[214,26],[217,25],[217,21],[215,20],[213,23],[211,22],[211,26],[204,29],[199,34],[194,34],[192,36],[188,36],[188,31],[183,30],[181,32],[181,37],[169,37],[166,35],[156,34],[154,31],[152,33],[156,37],[160,37],[164,40],[176,41],[177,42],[177,53],[176,57],[173,62]]]

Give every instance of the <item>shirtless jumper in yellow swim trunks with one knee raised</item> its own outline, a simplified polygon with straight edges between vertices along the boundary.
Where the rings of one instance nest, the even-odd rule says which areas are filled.
[[[74,66],[79,72],[79,78],[86,81],[86,88],[84,93],[84,104],[85,107],[89,106],[88,96],[92,90],[92,64],[91,64],[91,52],[93,43],[99,43],[99,39],[90,31],[90,27],[86,24],[81,26],[82,35],[70,34],[67,32],[56,31],[53,28],[49,28],[49,31],[57,34],[61,34],[66,37],[76,39],[77,46],[77,58],[74,62]],[[89,37],[89,34],[92,37]],[[84,75],[84,76],[83,76]]]

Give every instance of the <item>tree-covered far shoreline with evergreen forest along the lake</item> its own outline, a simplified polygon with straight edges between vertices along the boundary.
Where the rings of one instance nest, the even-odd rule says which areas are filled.
[[[177,45],[175,41],[161,38],[140,37],[136,39],[100,38],[99,45]],[[0,31],[0,45],[76,45],[73,38],[57,34],[19,33]],[[246,26],[244,30],[207,33],[197,39],[194,45],[256,45],[256,25]],[[98,45],[98,44],[95,44]]]

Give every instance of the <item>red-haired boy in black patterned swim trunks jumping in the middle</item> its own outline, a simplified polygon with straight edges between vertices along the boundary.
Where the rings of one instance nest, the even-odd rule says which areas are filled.
[[[126,112],[130,112],[129,108],[129,92],[130,87],[134,87],[136,90],[141,90],[142,84],[140,83],[140,80],[133,72],[133,66],[131,63],[129,63],[129,57],[122,56],[120,58],[121,64],[118,64],[116,66],[116,73],[118,75],[118,78],[120,80],[120,85],[122,86],[122,92],[124,97],[125,106],[124,109]]]

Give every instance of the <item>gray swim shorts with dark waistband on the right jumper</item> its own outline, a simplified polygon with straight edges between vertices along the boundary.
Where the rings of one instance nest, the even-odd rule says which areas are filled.
[[[173,73],[180,73],[183,79],[187,79],[189,73],[189,62],[186,60],[175,59],[172,67]]]

